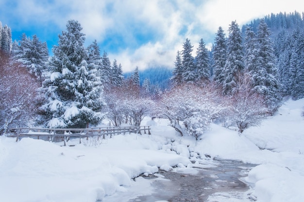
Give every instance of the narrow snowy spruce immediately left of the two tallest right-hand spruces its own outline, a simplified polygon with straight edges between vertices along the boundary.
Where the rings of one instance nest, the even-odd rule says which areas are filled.
[[[221,27],[217,32],[214,41],[213,47],[213,80],[219,84],[220,86],[223,85],[224,82],[224,66],[226,62],[226,51],[227,51],[227,43],[225,33]]]

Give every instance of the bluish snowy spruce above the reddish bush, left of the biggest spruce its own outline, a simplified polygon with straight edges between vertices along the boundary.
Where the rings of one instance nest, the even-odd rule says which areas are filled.
[[[42,43],[36,35],[32,39],[22,34],[18,46],[12,50],[13,59],[20,62],[27,70],[42,82],[42,74],[48,71],[49,50],[47,43]]]

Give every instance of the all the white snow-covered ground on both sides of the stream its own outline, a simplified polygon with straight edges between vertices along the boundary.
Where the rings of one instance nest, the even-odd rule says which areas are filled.
[[[191,170],[191,161],[205,154],[259,164],[243,179],[253,187],[244,200],[303,202],[303,106],[304,99],[289,100],[241,136],[212,124],[197,142],[175,135],[166,120],[144,121],[152,124],[152,135],[118,135],[83,144],[72,140],[68,144],[75,146],[67,147],[0,137],[0,202],[106,202],[110,197],[124,202],[152,192],[150,181],[132,178],[155,173],[158,167]],[[217,195],[211,200],[221,201]]]

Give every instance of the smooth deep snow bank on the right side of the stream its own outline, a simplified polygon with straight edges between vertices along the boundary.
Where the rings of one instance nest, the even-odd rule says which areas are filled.
[[[211,157],[261,164],[243,180],[257,202],[302,202],[304,199],[304,99],[288,100],[278,112],[241,136],[212,124],[195,150]],[[214,199],[213,199],[214,200]]]

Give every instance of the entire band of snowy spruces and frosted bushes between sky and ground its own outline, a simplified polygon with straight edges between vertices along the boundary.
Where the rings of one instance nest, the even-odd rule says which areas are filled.
[[[0,135],[8,127],[86,128],[103,120],[140,125],[169,119],[198,139],[210,123],[236,129],[260,124],[285,99],[304,97],[304,14],[271,14],[240,27],[219,27],[211,50],[185,39],[174,69],[123,74],[97,41],[69,20],[51,49],[38,36],[12,42],[0,23]]]

